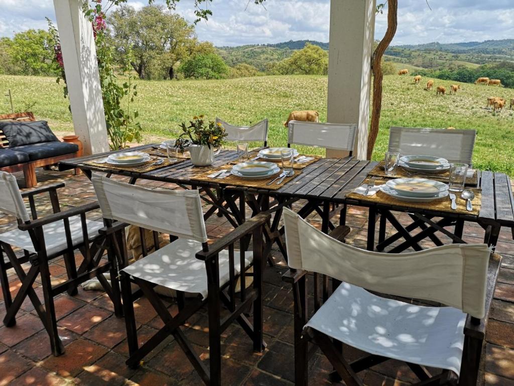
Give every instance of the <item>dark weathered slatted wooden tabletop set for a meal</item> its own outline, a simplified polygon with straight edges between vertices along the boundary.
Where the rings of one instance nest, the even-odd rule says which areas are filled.
[[[152,145],[143,145],[132,148],[140,150],[149,148]],[[155,145],[154,145],[155,146]],[[135,171],[119,170],[116,168],[95,167],[84,165],[84,161],[105,156],[109,153],[85,156],[78,159],[62,161],[59,165],[61,170],[81,168],[85,171],[103,171],[132,178],[142,178],[162,182],[179,183],[183,185],[198,185],[210,187],[230,187],[223,183],[223,180],[214,180],[212,183],[195,181],[194,175],[198,169],[193,167],[191,161],[186,160],[171,166],[156,169],[150,172],[138,173]],[[223,150],[215,158],[211,168],[223,166],[228,162],[237,159],[234,150]],[[257,193],[269,193],[274,196],[285,196],[299,199],[317,199],[333,203],[352,203],[363,206],[370,206],[369,203],[352,200],[348,202],[346,195],[358,187],[366,178],[368,172],[373,169],[376,162],[359,161],[351,157],[344,159],[321,159],[314,164],[307,166],[301,174],[292,179],[278,190],[255,189],[245,187],[230,187],[235,190],[248,190]],[[484,223],[499,224],[502,226],[514,227],[514,198],[510,179],[503,173],[484,171],[481,173],[480,187],[482,188],[482,207],[478,216],[452,215],[452,217],[463,217],[467,220],[480,220]],[[387,203],[380,204],[388,207]],[[405,207],[389,207],[392,210],[406,212]],[[444,214],[441,214],[444,215]]]

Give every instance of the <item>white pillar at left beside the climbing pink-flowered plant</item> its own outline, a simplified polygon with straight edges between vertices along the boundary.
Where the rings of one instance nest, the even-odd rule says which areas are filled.
[[[93,27],[83,0],[53,0],[75,133],[84,154],[109,150]]]

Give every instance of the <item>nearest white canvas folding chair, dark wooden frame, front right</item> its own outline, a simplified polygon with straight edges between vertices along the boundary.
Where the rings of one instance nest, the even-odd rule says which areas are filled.
[[[284,222],[291,269],[283,279],[295,294],[297,385],[307,384],[307,342],[321,348],[347,385],[362,385],[358,372],[389,359],[407,362],[423,385],[476,384],[501,261],[486,244],[385,254],[339,242],[289,209]],[[308,271],[333,277],[334,289],[310,319]],[[342,344],[370,355],[348,362]],[[443,372],[432,376],[426,366]]]

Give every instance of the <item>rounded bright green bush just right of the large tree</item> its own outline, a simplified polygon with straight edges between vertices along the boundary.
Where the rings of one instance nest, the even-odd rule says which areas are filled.
[[[195,79],[224,79],[229,74],[229,66],[213,52],[195,54],[184,60],[178,67],[186,78]]]

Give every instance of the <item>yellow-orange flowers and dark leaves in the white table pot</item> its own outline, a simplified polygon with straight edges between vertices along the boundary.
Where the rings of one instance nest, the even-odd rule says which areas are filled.
[[[186,148],[189,145],[207,145],[211,147],[221,147],[225,143],[225,128],[221,123],[215,124],[212,120],[206,122],[204,115],[194,116],[193,120],[189,121],[189,126],[185,122],[180,125],[182,134],[179,135],[177,146],[180,149]]]

